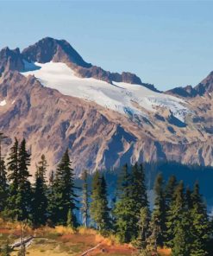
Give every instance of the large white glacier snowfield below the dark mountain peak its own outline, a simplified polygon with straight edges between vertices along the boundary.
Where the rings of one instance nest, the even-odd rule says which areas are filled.
[[[184,122],[185,115],[190,112],[183,99],[156,93],[141,85],[115,81],[110,84],[94,78],[80,78],[61,62],[35,62],[31,63],[32,66],[25,64],[26,70],[22,74],[34,74],[44,86],[57,89],[66,95],[94,101],[100,106],[122,114],[146,116],[140,107],[156,112],[156,106],[160,106],[169,109],[176,118]]]

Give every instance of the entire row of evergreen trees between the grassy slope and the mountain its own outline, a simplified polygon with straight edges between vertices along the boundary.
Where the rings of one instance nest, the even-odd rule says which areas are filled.
[[[213,225],[198,182],[191,190],[171,176],[167,182],[159,174],[154,184],[151,209],[142,164],[125,164],[117,180],[115,195],[108,195],[104,175],[96,171],[88,183],[77,188],[66,150],[56,170],[47,180],[44,155],[36,164],[34,182],[29,182],[30,154],[26,141],[15,139],[5,161],[0,134],[0,214],[9,221],[28,221],[33,227],[79,225],[94,227],[103,235],[115,234],[123,243],[131,242],[140,255],[157,255],[158,246],[172,249],[174,256],[204,256],[212,242]],[[6,163],[7,162],[7,163]],[[82,220],[78,218],[81,213]]]

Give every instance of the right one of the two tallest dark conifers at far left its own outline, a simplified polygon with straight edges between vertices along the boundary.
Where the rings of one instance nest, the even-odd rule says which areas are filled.
[[[17,219],[18,221],[28,220],[32,214],[32,190],[28,181],[30,176],[28,166],[30,165],[30,155],[26,150],[26,141],[22,140],[18,150],[18,191],[17,191]]]

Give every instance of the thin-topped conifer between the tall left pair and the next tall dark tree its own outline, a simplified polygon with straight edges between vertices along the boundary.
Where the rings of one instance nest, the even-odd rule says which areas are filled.
[[[45,174],[47,172],[47,160],[44,155],[36,166],[34,200],[33,200],[33,221],[35,227],[44,225],[47,221],[47,185]]]

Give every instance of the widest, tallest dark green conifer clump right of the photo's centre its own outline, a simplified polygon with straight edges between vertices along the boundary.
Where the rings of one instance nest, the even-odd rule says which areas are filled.
[[[117,201],[114,209],[116,234],[122,242],[129,242],[138,237],[137,225],[141,208],[147,208],[147,189],[142,164],[137,163],[128,172],[124,165],[118,180]]]

